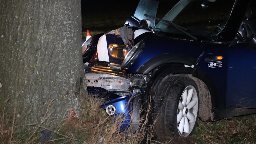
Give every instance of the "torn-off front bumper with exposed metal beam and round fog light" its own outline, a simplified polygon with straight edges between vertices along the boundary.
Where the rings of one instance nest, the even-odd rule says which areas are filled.
[[[134,75],[131,79],[124,77],[103,74],[103,73],[85,73],[87,91],[99,101],[102,101],[102,108],[107,114],[118,117],[120,122],[120,131],[130,126],[136,130],[139,120],[139,110],[141,100],[145,92],[143,87],[145,77]],[[147,79],[146,79],[147,80]]]

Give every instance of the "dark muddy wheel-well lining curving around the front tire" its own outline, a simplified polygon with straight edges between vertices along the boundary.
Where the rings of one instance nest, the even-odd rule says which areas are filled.
[[[195,81],[199,91],[199,118],[203,121],[214,121],[214,110],[217,108],[217,89],[211,78],[202,70],[194,71],[192,68],[185,68],[182,63],[168,63],[156,67],[148,73],[152,76],[149,81],[150,91],[160,83],[162,79],[171,76],[188,77]],[[154,95],[148,92],[149,95]]]

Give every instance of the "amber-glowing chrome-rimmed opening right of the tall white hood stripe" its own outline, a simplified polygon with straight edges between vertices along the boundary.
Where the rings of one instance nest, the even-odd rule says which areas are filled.
[[[128,45],[109,44],[108,52],[111,57],[123,60],[129,51]]]

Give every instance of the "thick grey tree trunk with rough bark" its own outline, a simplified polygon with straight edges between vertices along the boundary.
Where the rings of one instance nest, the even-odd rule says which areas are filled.
[[[0,0],[0,104],[20,124],[55,128],[82,93],[80,0]]]

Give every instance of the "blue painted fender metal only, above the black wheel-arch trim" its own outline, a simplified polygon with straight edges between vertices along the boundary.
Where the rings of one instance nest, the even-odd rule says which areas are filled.
[[[197,59],[204,51],[204,47],[200,42],[161,37],[154,35],[153,33],[145,34],[148,34],[147,37],[143,39],[145,48],[132,66],[127,70],[127,73],[136,73],[144,63],[162,54],[183,54]]]

